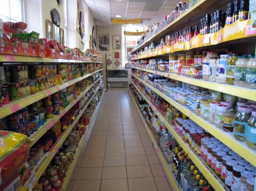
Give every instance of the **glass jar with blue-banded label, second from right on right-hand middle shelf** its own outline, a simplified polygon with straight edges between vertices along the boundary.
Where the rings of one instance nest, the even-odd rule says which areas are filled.
[[[250,119],[252,107],[241,106],[238,107],[238,112],[234,116],[233,135],[236,139],[246,140],[247,135],[247,121]]]

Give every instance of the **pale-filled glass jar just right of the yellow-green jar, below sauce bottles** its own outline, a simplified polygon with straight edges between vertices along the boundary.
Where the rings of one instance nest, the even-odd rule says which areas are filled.
[[[236,69],[234,71],[234,85],[244,87],[245,86],[245,76],[246,76],[246,63],[248,58],[245,56],[238,56],[236,62]]]

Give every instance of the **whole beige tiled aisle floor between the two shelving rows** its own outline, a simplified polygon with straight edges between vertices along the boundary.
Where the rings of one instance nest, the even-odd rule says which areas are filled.
[[[127,88],[105,92],[68,190],[171,190]]]

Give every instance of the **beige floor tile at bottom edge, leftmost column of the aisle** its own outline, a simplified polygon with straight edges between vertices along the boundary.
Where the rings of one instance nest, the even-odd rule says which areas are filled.
[[[75,180],[72,191],[100,191],[100,180]]]

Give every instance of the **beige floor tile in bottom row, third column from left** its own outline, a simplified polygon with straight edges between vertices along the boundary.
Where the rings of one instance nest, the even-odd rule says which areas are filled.
[[[153,177],[128,179],[129,191],[156,191]]]

